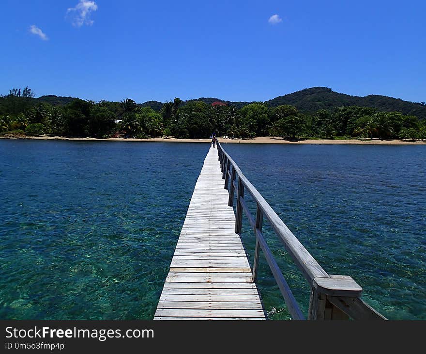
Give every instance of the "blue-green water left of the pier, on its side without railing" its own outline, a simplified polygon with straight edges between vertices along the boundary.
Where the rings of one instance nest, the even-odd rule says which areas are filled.
[[[208,147],[0,141],[0,318],[151,319]]]

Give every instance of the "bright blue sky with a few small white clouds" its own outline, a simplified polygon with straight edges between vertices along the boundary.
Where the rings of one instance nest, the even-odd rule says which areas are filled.
[[[1,0],[0,93],[426,101],[426,2]]]

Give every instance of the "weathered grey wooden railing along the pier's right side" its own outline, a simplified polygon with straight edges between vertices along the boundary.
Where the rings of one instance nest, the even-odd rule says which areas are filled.
[[[262,250],[279,290],[286,301],[291,317],[294,320],[305,320],[299,304],[294,298],[263,237],[262,223],[263,219],[266,219],[274,229],[275,234],[284,243],[290,257],[310,285],[308,320],[347,320],[350,318],[354,320],[386,320],[385,317],[361,300],[362,288],[349,275],[327,274],[322,269],[315,258],[304,248],[302,243],[243,175],[238,165],[230,158],[219,142],[217,143],[217,151],[222,169],[222,178],[225,179],[225,189],[228,189],[229,186],[229,206],[233,206],[234,194],[235,192],[237,193],[235,233],[241,234],[244,210],[256,236],[252,269],[253,281],[257,281],[259,256],[260,250]],[[244,200],[245,192],[250,193],[257,204],[256,218],[250,213]]]

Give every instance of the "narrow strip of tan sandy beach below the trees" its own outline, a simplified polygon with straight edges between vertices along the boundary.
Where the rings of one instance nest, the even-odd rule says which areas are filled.
[[[76,140],[76,141],[131,141],[131,142],[166,142],[166,143],[210,143],[211,139],[176,139],[176,138],[150,138],[150,139],[136,139],[136,138],[66,138],[63,136],[15,136],[15,137],[0,137],[0,139],[35,139],[35,140]],[[398,139],[393,140],[379,140],[379,139],[342,139],[342,140],[329,140],[329,139],[312,139],[312,140],[299,140],[288,141],[281,138],[273,137],[257,137],[253,139],[224,139],[218,138],[220,143],[225,144],[312,144],[312,145],[426,145],[426,141],[403,141]]]

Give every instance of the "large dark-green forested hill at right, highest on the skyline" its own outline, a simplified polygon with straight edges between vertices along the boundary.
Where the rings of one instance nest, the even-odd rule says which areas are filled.
[[[295,106],[306,113],[314,113],[320,109],[343,106],[372,107],[385,112],[401,112],[426,118],[426,105],[404,101],[399,98],[369,95],[365,97],[340,94],[327,87],[312,87],[285,96],[275,97],[265,102],[269,107],[283,104]]]

